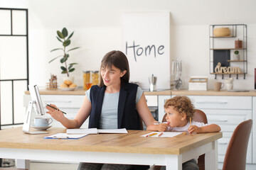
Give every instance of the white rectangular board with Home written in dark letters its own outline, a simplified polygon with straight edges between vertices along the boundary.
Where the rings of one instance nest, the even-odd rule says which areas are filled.
[[[157,89],[169,89],[170,13],[124,13],[122,52],[127,55],[130,81],[149,89],[149,77],[157,77]]]

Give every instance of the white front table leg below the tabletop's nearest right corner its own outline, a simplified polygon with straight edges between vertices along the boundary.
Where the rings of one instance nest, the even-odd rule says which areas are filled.
[[[166,170],[182,170],[182,155],[166,155]]]

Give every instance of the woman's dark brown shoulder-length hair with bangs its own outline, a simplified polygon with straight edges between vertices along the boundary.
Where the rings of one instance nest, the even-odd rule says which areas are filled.
[[[121,72],[124,72],[126,70],[126,74],[124,74],[123,77],[121,77],[121,83],[129,82],[129,62],[127,60],[127,57],[124,55],[123,52],[120,51],[111,51],[107,52],[107,54],[102,58],[102,64],[100,66],[100,70],[102,67],[111,68],[112,64],[114,67],[117,67],[121,70]],[[104,86],[104,82],[102,77],[100,77],[100,86]]]

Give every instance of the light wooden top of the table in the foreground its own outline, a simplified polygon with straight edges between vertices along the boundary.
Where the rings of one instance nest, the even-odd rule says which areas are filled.
[[[33,129],[33,128],[31,128]],[[119,152],[142,154],[182,154],[222,137],[222,132],[177,135],[176,137],[141,137],[145,130],[128,130],[128,134],[87,135],[78,140],[43,139],[65,132],[65,128],[49,128],[49,134],[28,135],[22,128],[0,130],[0,148],[46,149],[85,152]]]

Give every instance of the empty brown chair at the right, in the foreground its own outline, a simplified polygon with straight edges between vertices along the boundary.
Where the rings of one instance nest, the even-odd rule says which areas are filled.
[[[245,169],[247,146],[252,130],[252,120],[246,120],[238,125],[228,144],[223,162],[223,170]]]

